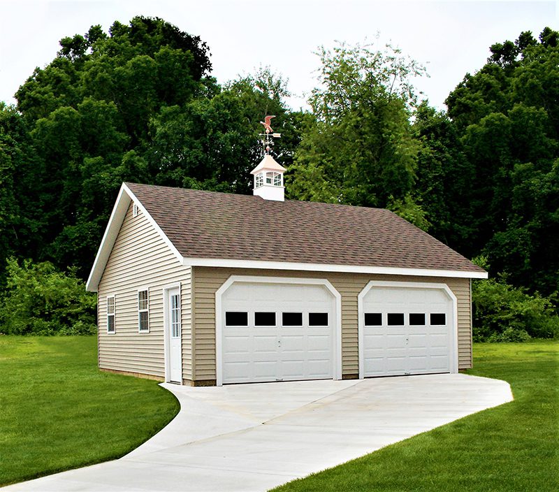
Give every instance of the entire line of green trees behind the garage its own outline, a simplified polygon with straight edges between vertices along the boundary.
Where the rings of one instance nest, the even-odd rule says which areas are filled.
[[[24,260],[85,279],[123,181],[251,193],[273,114],[288,198],[390,208],[489,270],[478,314],[501,309],[504,285],[517,317],[529,303],[556,316],[558,36],[495,43],[444,112],[416,93],[423,66],[391,46],[319,48],[303,111],[269,68],[218,84],[208,45],[159,18],[63,38],[17,104],[0,103],[0,289],[50,271]],[[530,326],[518,330],[542,335]]]

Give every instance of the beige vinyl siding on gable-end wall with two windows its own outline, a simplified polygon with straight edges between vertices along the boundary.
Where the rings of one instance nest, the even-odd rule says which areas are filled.
[[[192,378],[191,268],[184,267],[132,204],[99,282],[99,368],[165,377],[164,288],[181,284],[183,378]],[[138,289],[149,291],[149,333],[138,333]],[[115,296],[115,334],[107,296]]]

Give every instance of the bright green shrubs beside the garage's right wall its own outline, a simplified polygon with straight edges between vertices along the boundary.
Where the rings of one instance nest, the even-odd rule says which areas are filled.
[[[559,317],[549,298],[530,295],[504,279],[472,286],[475,341],[525,342],[559,336]]]

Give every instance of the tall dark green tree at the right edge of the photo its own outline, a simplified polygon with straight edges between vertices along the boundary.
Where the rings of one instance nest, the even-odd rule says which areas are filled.
[[[559,34],[495,43],[447,98],[470,164],[469,240],[491,273],[551,294],[559,287]]]

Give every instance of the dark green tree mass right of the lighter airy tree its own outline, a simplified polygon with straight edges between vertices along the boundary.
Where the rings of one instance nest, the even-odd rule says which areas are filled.
[[[488,63],[424,104],[414,195],[430,232],[514,287],[559,290],[559,48],[544,29],[491,46]]]

